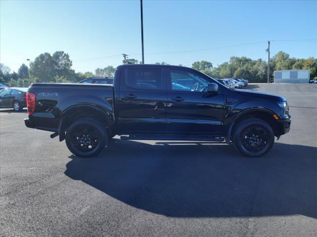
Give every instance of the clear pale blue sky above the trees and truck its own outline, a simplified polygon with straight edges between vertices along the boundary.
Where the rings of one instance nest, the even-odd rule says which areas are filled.
[[[271,41],[271,55],[317,57],[317,1],[144,0],[143,15],[146,63],[267,60],[267,40],[299,40]],[[17,71],[27,58],[56,50],[70,55],[76,72],[118,66],[122,53],[141,60],[139,0],[1,0],[1,63]]]

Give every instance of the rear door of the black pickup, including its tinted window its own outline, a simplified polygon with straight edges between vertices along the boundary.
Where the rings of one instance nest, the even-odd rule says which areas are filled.
[[[162,68],[123,69],[116,113],[123,134],[165,131],[166,80]]]

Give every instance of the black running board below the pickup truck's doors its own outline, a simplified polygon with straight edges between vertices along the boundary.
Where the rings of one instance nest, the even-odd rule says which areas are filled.
[[[164,140],[164,141],[211,141],[223,142],[223,137],[215,136],[193,136],[193,135],[145,135],[135,134],[129,136],[120,136],[122,140]]]

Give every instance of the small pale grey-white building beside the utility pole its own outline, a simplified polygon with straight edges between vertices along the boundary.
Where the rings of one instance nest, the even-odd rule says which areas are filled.
[[[274,71],[274,83],[309,83],[309,70]]]

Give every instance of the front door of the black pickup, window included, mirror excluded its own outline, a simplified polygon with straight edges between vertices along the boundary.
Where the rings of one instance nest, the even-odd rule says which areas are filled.
[[[214,82],[192,71],[169,70],[166,130],[174,133],[216,133],[223,123],[224,100],[207,93]],[[216,82],[214,82],[216,83]]]

